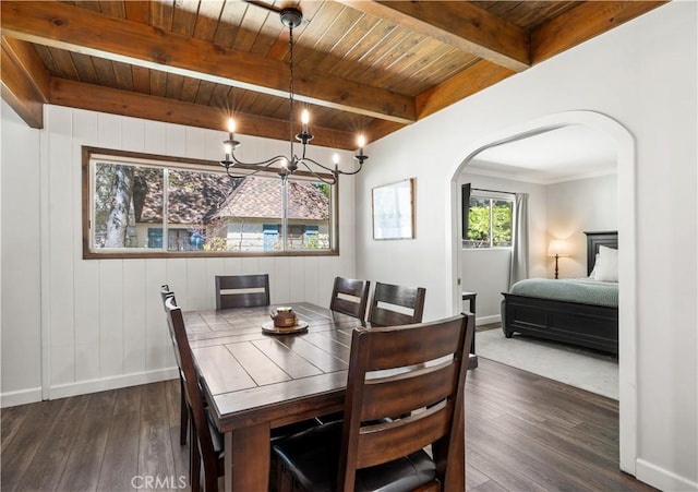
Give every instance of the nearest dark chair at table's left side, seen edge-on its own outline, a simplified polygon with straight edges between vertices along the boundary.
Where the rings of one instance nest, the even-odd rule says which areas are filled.
[[[222,437],[207,415],[204,405],[194,358],[186,338],[186,328],[181,308],[174,297],[165,299],[167,324],[174,348],[174,357],[183,380],[184,398],[192,419],[190,446],[190,481],[192,492],[201,490],[201,464],[204,465],[204,490],[217,491],[218,477],[224,475]]]

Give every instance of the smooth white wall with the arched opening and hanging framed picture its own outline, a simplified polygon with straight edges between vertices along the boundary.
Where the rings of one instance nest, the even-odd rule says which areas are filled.
[[[627,383],[637,401],[621,407],[637,409],[637,441],[623,445],[636,452],[630,471],[663,490],[698,490],[698,272],[687,254],[698,249],[697,9],[664,4],[382,139],[357,181],[357,275],[424,285],[424,316],[434,319],[460,309],[450,180],[474,144],[578,109],[628,129],[637,144],[635,181],[623,185],[637,196],[628,241],[637,259],[637,312],[629,313],[637,326],[629,329],[638,363],[624,368],[637,373]],[[371,189],[408,177],[417,178],[416,239],[373,241]]]

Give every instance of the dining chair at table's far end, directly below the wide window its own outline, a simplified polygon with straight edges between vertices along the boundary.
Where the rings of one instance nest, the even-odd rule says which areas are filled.
[[[216,275],[216,310],[269,305],[269,275]]]

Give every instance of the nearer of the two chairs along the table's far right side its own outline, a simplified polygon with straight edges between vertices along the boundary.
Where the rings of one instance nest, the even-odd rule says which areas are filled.
[[[421,323],[424,313],[423,287],[404,287],[390,284],[375,284],[369,323],[371,326],[397,326]]]

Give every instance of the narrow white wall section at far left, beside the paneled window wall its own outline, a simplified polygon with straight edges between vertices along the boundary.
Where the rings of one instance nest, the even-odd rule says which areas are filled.
[[[2,395],[41,395],[39,132],[4,103],[2,116]],[[16,265],[16,267],[13,267]]]

